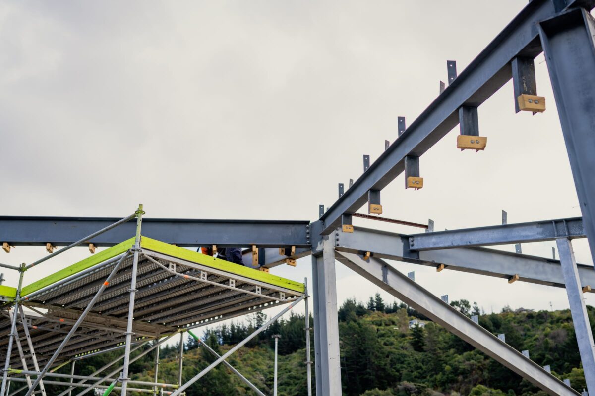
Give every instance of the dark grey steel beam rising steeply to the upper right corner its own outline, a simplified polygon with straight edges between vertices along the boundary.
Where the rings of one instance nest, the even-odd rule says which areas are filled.
[[[585,5],[588,5],[588,9],[593,8],[592,1],[587,3]],[[553,2],[529,2],[450,83],[444,93],[390,145],[389,150],[384,151],[367,172],[353,183],[353,187],[324,213],[321,217],[324,221],[322,233],[328,235],[333,232],[340,225],[342,214],[355,213],[361,208],[366,203],[368,190],[381,190],[399,176],[403,172],[406,156],[421,156],[450,132],[459,122],[459,107],[480,106],[508,82],[512,77],[513,58],[519,55],[535,58],[541,52],[536,24],[554,15],[556,9]],[[572,75],[572,78],[576,78],[576,75]],[[578,84],[580,80],[576,79],[574,84]],[[566,88],[566,91],[571,92],[571,89]],[[576,110],[580,108],[578,106]],[[585,144],[584,147],[593,146]],[[595,197],[595,194],[591,194],[591,197]]]

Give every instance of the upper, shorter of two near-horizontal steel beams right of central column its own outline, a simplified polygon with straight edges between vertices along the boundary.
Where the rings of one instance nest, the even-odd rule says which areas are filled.
[[[506,243],[539,242],[554,240],[562,236],[585,237],[583,219],[580,217],[559,218],[556,220],[414,234],[409,235],[409,246],[414,251],[427,251],[432,249],[504,245]]]

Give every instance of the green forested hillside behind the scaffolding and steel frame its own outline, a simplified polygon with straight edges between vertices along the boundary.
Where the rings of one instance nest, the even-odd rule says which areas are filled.
[[[501,313],[482,314],[476,304],[471,305],[466,300],[451,305],[465,315],[479,314],[484,328],[494,334],[505,333],[506,342],[512,347],[529,350],[532,360],[550,365],[554,375],[570,379],[572,387],[583,390],[583,370],[569,311],[519,309],[513,312],[506,308]],[[588,312],[591,323],[595,323],[594,309],[588,307]],[[410,328],[411,320],[419,324]],[[221,326],[202,337],[218,353],[225,353],[264,321],[265,315],[258,313],[246,324]],[[386,305],[379,295],[366,305],[347,300],[339,310],[339,321],[345,395],[545,395],[418,312],[403,304]],[[304,325],[303,316],[287,316],[233,354],[228,362],[265,394],[272,395],[274,343],[271,335],[280,334],[279,395],[306,395]],[[192,339],[184,348],[184,380],[214,361],[214,357]],[[159,381],[177,382],[177,349],[177,346],[161,349]],[[77,366],[77,374],[88,375],[114,356],[104,354],[83,360],[84,364]],[[64,372],[68,370],[64,368]],[[131,372],[135,373],[134,379],[152,381],[154,354],[149,353],[133,363]],[[187,391],[189,396],[252,394],[254,392],[223,365]]]

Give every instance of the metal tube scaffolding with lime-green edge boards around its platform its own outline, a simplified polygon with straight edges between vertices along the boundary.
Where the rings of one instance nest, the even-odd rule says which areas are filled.
[[[307,302],[305,283],[145,237],[141,233],[143,213],[140,205],[134,216],[105,227],[100,233],[93,233],[51,256],[135,217],[136,236],[23,286],[26,270],[51,258],[46,256],[19,268],[18,287],[2,286],[0,293],[5,301],[0,318],[0,350],[5,358],[2,395],[17,394],[28,388],[28,396],[37,387],[45,395],[44,384],[64,386],[66,389],[60,395],[70,395],[77,387],[83,388],[77,395],[92,389],[106,389],[105,394],[113,389],[121,390],[122,394],[127,390],[156,394],[159,389],[159,394],[177,395],[219,363],[226,365],[257,394],[264,395],[225,359],[297,303]],[[204,325],[280,305],[287,306],[223,356],[201,343],[192,332]],[[305,335],[308,335],[308,318],[306,329]],[[158,350],[162,343],[174,335],[182,336],[184,332],[189,332],[214,354],[217,357],[215,363],[183,384],[183,338],[180,338],[177,384],[158,382],[158,357],[153,382],[130,378],[130,363]],[[149,342],[151,347],[131,357],[132,351]],[[74,375],[77,361],[122,349],[122,356],[92,375]],[[32,363],[33,369],[29,368],[28,362]],[[72,365],[70,375],[55,373],[68,364]],[[107,375],[102,374],[105,370],[109,370]],[[57,381],[60,378],[68,378],[71,382]],[[26,385],[10,393],[11,382],[26,382]]]

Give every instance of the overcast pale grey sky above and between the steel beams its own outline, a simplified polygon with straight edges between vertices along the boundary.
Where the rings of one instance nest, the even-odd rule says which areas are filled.
[[[316,220],[337,183],[361,175],[362,155],[396,139],[397,116],[411,124],[435,99],[446,60],[461,72],[526,4],[1,2],[0,214],[124,217],[142,202],[148,217]],[[456,127],[421,158],[423,189],[401,175],[383,190],[383,216],[437,230],[499,224],[501,210],[509,223],[580,216],[543,54],[536,72],[545,113],[515,114],[506,84],[479,109],[486,151],[456,150]],[[586,240],[575,252],[591,264]],[[19,246],[0,262],[43,255]],[[310,263],[271,272],[301,280]],[[394,265],[487,312],[568,308],[563,289]],[[340,302],[377,291],[338,262],[337,278]]]

